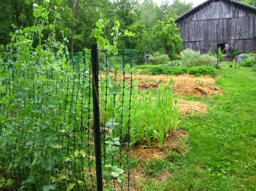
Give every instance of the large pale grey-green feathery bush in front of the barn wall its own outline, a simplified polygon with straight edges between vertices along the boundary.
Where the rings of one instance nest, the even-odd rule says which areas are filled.
[[[217,58],[208,54],[200,55],[200,52],[186,49],[180,53],[182,66],[215,66]]]

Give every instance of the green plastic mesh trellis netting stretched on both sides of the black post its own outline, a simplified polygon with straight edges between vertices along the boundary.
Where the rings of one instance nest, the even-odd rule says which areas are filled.
[[[102,50],[94,58],[91,51],[38,56],[28,62],[15,56],[1,57],[0,174],[13,182],[10,187],[100,190],[96,181],[96,161],[100,160],[103,187],[133,190],[130,179],[133,55],[132,50],[120,50],[113,58]],[[94,143],[97,139],[94,139],[93,82],[97,81],[92,78],[93,59],[100,68],[95,99],[99,104],[98,147],[95,145],[99,142]],[[123,78],[117,80],[116,75]],[[127,75],[129,79],[125,78]],[[102,150],[99,158],[95,156],[97,149]]]

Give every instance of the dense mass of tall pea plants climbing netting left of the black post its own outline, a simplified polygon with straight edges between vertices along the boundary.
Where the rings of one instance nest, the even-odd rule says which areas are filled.
[[[55,55],[65,53],[68,42],[56,40],[61,0],[56,4],[51,6],[49,0],[33,4],[34,25],[13,26],[11,43],[0,57],[0,171],[5,177],[0,187],[31,191],[94,187],[93,175],[81,166],[94,163],[84,150],[93,149],[91,88],[82,89],[89,83],[81,80],[89,69],[84,63],[70,69],[73,57]],[[85,137],[83,143],[80,137]]]

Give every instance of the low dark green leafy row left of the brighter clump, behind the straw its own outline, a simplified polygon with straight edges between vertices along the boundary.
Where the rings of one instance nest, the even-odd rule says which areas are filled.
[[[179,75],[179,74],[186,74],[187,68],[184,66],[180,66],[180,67],[155,66],[154,68],[150,69],[149,73],[151,75],[159,75],[159,74]]]

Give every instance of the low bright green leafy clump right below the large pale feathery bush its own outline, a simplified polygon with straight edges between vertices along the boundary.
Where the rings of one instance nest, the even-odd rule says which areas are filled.
[[[211,75],[212,77],[214,77],[218,73],[219,71],[211,66],[193,66],[188,69],[188,74],[193,74],[195,76]]]

